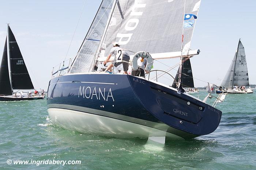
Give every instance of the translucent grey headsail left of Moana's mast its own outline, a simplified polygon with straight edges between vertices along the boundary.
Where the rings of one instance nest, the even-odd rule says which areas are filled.
[[[102,0],[96,16],[87,35],[80,47],[74,62],[72,63],[70,73],[88,72],[92,68],[95,53],[99,46],[102,33],[106,27],[109,12],[111,10],[113,0]]]

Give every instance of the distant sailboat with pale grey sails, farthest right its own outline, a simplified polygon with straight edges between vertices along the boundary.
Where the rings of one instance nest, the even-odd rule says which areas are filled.
[[[245,50],[241,39],[239,39],[236,54],[229,66],[229,70],[221,83],[221,88],[216,93],[222,93],[223,90],[224,92],[234,94],[253,93],[249,86]]]

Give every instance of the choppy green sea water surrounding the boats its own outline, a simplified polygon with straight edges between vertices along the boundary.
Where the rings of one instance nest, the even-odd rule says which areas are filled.
[[[203,99],[206,91],[194,96]],[[167,141],[161,147],[139,138],[62,129],[52,124],[46,99],[0,102],[0,169],[256,169],[256,93],[229,94],[217,108],[222,119],[214,133],[188,141]],[[13,163],[48,159],[81,163]]]

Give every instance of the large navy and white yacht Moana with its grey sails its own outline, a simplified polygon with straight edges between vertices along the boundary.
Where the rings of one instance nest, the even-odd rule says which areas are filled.
[[[159,143],[215,131],[222,112],[182,86],[101,71],[113,42],[130,52],[134,70],[139,57],[150,61],[149,74],[159,72],[151,70],[153,59],[198,55],[190,44],[199,5],[200,0],[103,0],[72,64],[52,71],[47,96],[52,122],[81,133]]]

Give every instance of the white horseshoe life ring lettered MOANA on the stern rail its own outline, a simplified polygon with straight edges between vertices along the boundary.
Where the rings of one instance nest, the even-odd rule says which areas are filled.
[[[153,66],[153,58],[151,57],[151,55],[148,52],[145,52],[145,51],[139,51],[133,56],[132,69],[134,69],[134,70],[138,69],[137,61],[140,57],[147,60],[147,65],[146,65],[145,70],[150,71]]]

